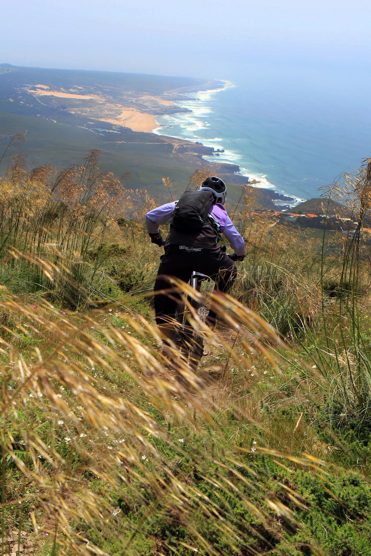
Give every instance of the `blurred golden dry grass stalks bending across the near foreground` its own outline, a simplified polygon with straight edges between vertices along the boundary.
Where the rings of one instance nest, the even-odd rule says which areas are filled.
[[[280,373],[273,329],[230,297],[214,303],[223,306],[238,344],[231,349],[205,328],[209,345],[225,346],[242,368],[260,352],[270,373]],[[267,484],[254,470],[255,453],[269,447],[235,445],[223,430],[221,411],[241,420],[246,411],[216,400],[185,364],[183,380],[176,380],[145,319],[115,306],[61,316],[47,302],[36,311],[11,294],[3,294],[0,307],[13,319],[2,341],[3,554],[14,530],[39,554],[43,545],[61,555],[107,554],[109,546],[145,554],[150,533],[157,553],[256,554],[273,550],[283,523],[300,527],[294,508],[303,506],[301,497],[291,493],[283,502],[271,492],[272,479]],[[113,317],[123,325],[112,325]],[[47,345],[23,349],[19,332]],[[323,465],[314,456],[299,460],[308,468]],[[219,546],[207,531],[210,520]],[[157,522],[183,530],[185,540],[174,544]]]

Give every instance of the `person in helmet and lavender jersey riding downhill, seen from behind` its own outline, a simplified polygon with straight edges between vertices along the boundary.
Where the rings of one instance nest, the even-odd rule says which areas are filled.
[[[197,208],[200,199],[201,204],[203,203],[200,214],[204,209],[205,219],[201,229],[194,230],[191,226],[194,212],[189,212],[189,205]],[[225,201],[224,181],[211,176],[202,182],[199,190],[186,191],[178,201],[157,207],[146,214],[146,226],[151,242],[165,247],[165,255],[161,256],[157,271],[154,292],[156,294],[161,290],[172,289],[167,295],[165,292],[155,295],[156,323],[165,338],[171,336],[171,320],[175,318],[177,302],[181,299],[180,292],[174,292],[174,286],[167,280],[168,276],[188,282],[192,271],[195,270],[215,281],[214,291],[227,293],[233,285],[237,275],[234,261],[244,259],[245,242],[227,215]],[[177,214],[181,211],[186,215],[184,222],[181,222]],[[199,217],[198,214],[197,216]],[[170,232],[164,241],[159,226],[169,223]],[[234,255],[228,256],[220,249],[220,234],[224,234],[230,242]],[[209,311],[206,322],[212,329],[215,327],[214,311]]]

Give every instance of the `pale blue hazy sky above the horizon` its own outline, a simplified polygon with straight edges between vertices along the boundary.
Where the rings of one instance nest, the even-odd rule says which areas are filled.
[[[17,66],[231,79],[255,62],[369,69],[369,0],[0,0],[0,8],[0,62]]]

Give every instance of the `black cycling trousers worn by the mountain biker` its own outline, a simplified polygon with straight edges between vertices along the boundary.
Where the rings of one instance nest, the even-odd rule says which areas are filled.
[[[164,324],[176,314],[176,306],[181,294],[174,291],[174,285],[169,284],[168,276],[176,277],[184,282],[191,278],[192,271],[210,276],[215,281],[215,290],[228,293],[237,275],[234,261],[217,249],[197,249],[192,247],[170,245],[166,247],[165,255],[161,257],[159,270],[155,281],[155,314],[157,324]],[[156,292],[171,289],[166,294]]]

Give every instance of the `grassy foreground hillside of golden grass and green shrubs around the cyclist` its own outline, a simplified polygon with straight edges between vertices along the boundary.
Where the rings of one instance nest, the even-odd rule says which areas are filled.
[[[205,356],[178,380],[154,326],[154,200],[97,152],[9,162],[2,554],[370,554],[371,161],[328,193],[349,237],[252,218],[249,189],[228,207],[247,256],[231,296],[202,293],[221,318],[195,322]]]

